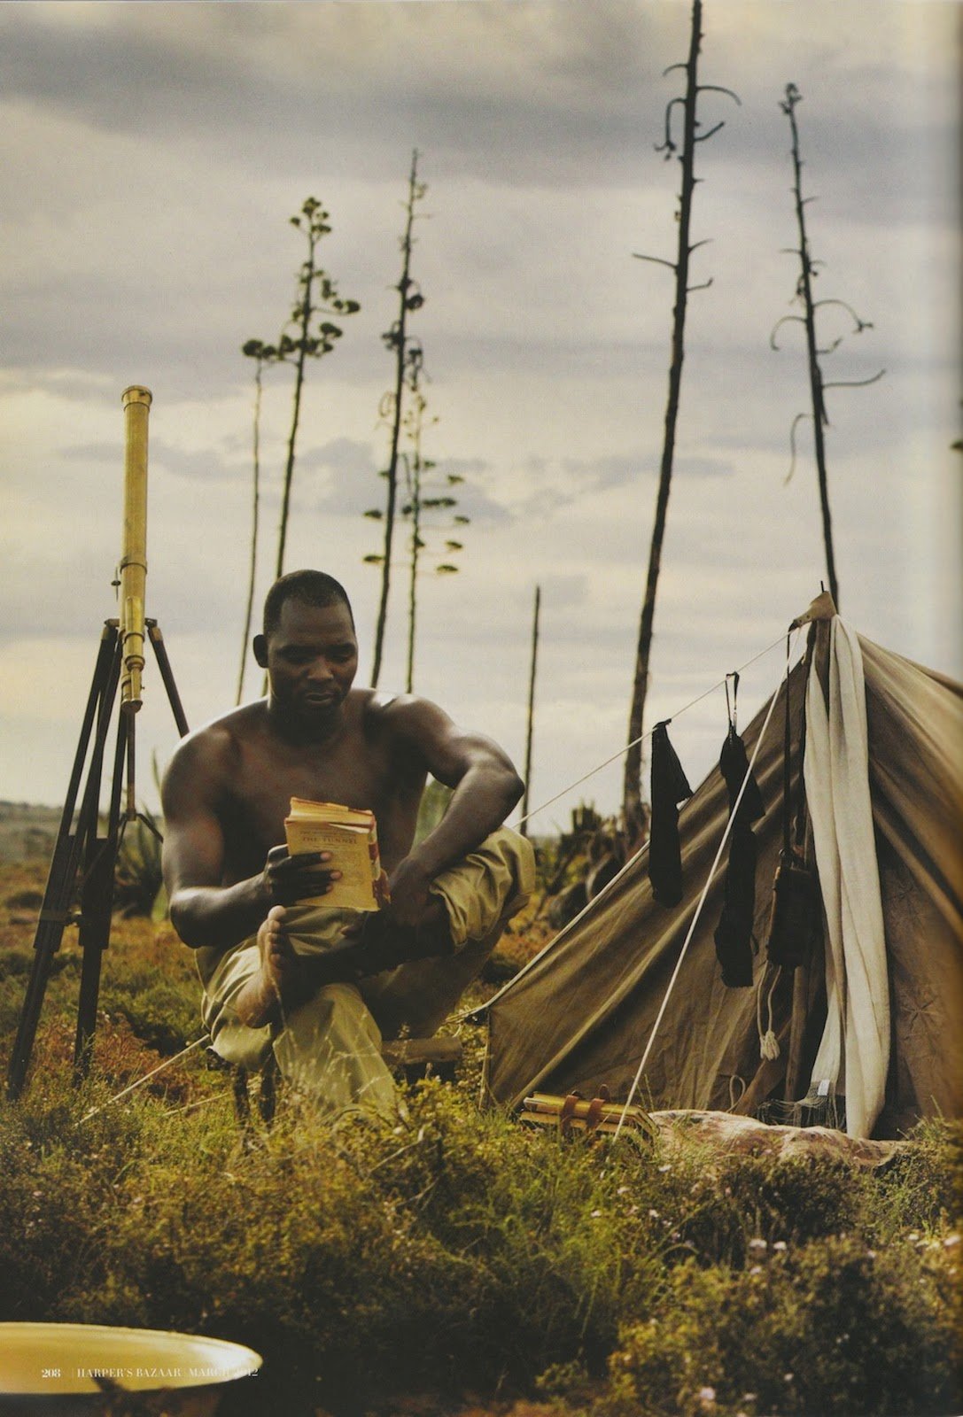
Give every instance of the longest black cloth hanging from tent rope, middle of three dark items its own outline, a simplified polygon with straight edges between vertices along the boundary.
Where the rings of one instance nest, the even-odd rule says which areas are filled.
[[[722,744],[719,772],[729,792],[732,813],[739,789],[749,774],[746,745],[733,723],[729,724],[726,741]],[[749,774],[729,833],[725,901],[713,937],[716,959],[722,965],[722,982],[730,989],[745,989],[752,985],[752,927],[756,915],[756,833],[752,823],[757,822],[764,811],[759,784],[755,775]]]

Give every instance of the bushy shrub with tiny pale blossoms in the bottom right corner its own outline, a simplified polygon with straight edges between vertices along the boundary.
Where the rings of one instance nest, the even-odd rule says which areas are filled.
[[[959,1284],[947,1253],[855,1237],[757,1246],[746,1270],[686,1264],[610,1359],[606,1417],[959,1411]]]

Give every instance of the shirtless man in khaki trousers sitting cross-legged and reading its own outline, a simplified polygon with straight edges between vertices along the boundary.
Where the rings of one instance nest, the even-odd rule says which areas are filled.
[[[495,743],[435,704],[352,687],[350,605],[322,572],[275,582],[254,656],[268,697],[184,738],[165,778],[170,918],[197,951],[223,1056],[251,1066],[274,1044],[284,1073],[281,1054],[294,1047],[288,1071],[304,1074],[305,1051],[328,1039],[330,1053],[367,1050],[372,1063],[376,1024],[434,1032],[530,891],[528,842],[498,830],[522,782]],[[416,847],[428,774],[454,791]],[[292,796],[374,812],[390,904],[363,925],[355,913],[296,904],[325,894],[339,871],[330,853],[289,856],[281,845]],[[404,959],[418,962],[383,972]],[[363,1003],[359,982],[374,973]],[[328,1091],[343,1102],[359,1087],[349,1078]]]

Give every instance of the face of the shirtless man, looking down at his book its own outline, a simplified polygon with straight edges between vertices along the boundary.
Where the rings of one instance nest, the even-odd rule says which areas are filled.
[[[254,653],[268,672],[272,706],[304,724],[336,717],[357,673],[357,639],[340,602],[285,601],[277,629],[258,635]]]

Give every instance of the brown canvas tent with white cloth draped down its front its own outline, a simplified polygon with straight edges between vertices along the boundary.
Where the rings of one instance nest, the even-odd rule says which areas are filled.
[[[857,1111],[855,1077],[862,1061],[868,1060],[868,1071],[874,1066],[881,1070],[876,1104],[867,1104],[865,1118],[855,1125],[850,1117],[852,1135],[894,1136],[919,1117],[960,1115],[963,687],[842,629],[830,608],[828,616],[810,629],[807,653],[783,682],[774,706],[770,701],[763,707],[743,731],[750,757],[757,747],[755,775],[766,809],[755,823],[753,986],[726,986],[716,959],[713,931],[723,900],[725,852],[691,928],[729,819],[726,786],[713,769],[679,813],[681,903],[667,908],[654,900],[648,847],[642,847],[491,1000],[485,1081],[494,1101],[518,1107],[535,1090],[593,1097],[603,1084],[613,1098],[624,1100],[648,1051],[637,1101],[654,1108],[833,1121],[833,1111],[818,1111],[823,1098],[816,1100],[814,1110],[793,1111],[793,1104],[816,1097],[813,1068],[835,1047],[842,1063],[828,1091],[838,1091],[840,1112],[847,1110],[847,1068],[854,1091],[851,1112]],[[842,649],[852,646],[865,683],[862,752],[858,724],[854,728],[852,721],[837,716],[827,731],[825,723],[813,717],[820,704],[827,720],[835,713],[827,706],[830,679],[840,673],[834,662],[837,640]],[[842,700],[848,691],[847,665],[844,656]],[[855,845],[833,842],[842,863],[834,881],[830,849],[823,845],[821,938],[817,932],[807,964],[776,968],[767,962],[764,941],[783,846],[787,693],[790,802],[797,802],[801,792],[800,761],[806,752],[810,854],[813,812],[825,816],[828,811],[830,818],[835,813],[844,836],[848,832],[851,808],[838,774],[852,777],[855,771],[857,796],[862,775],[868,826],[862,845],[858,835]],[[840,697],[838,683],[833,694]],[[757,744],[767,716],[767,731]],[[817,747],[818,738],[824,741]],[[834,979],[830,972],[827,1012],[825,961],[837,949],[831,917],[838,925],[840,917],[858,914],[859,896],[872,894],[874,879],[881,976],[874,981],[867,975],[861,982],[862,964],[854,966],[850,958],[851,978]],[[855,935],[867,931],[872,935],[872,910],[869,925],[857,922]],[[667,1002],[667,986],[689,934]],[[871,956],[874,948],[872,939],[867,947],[857,938],[857,949]],[[861,992],[868,1003],[859,1015]],[[770,1026],[779,1050],[764,1057],[763,1051],[776,1053],[772,1046],[760,1049],[760,1037]],[[872,1081],[867,1087],[871,1093]],[[825,1094],[827,1088],[820,1091]]]

